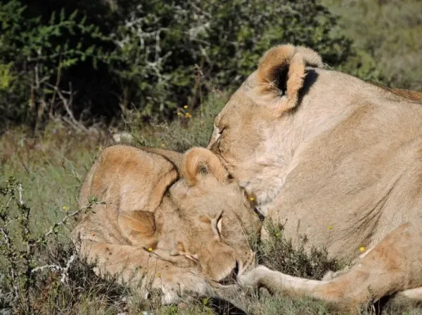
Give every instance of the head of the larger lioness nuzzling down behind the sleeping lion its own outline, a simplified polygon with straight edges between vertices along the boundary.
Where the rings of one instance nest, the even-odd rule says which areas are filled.
[[[279,130],[300,100],[306,65],[324,66],[309,48],[271,48],[215,118],[208,149],[260,204],[277,194],[284,180],[280,170],[290,162],[280,159],[279,152],[290,147],[288,142],[294,141],[295,135],[286,136]]]

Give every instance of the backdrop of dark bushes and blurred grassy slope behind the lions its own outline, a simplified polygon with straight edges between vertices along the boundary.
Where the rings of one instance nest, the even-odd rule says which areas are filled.
[[[278,43],[421,89],[421,31],[417,0],[0,0],[0,131],[171,120],[238,86]]]

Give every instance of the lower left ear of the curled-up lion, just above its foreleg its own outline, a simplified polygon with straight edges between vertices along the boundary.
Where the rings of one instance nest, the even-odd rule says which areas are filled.
[[[120,231],[133,245],[154,247],[155,217],[148,211],[122,211],[117,218]]]

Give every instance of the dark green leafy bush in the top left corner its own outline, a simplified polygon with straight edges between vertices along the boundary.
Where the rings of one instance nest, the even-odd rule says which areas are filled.
[[[0,3],[0,117],[34,127],[48,117],[72,113],[72,82],[66,71],[89,60],[106,62],[98,43],[110,41],[77,10],[52,11],[48,18],[21,1]]]

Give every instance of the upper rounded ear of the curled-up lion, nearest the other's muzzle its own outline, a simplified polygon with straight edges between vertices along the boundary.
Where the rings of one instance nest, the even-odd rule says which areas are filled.
[[[184,154],[181,173],[190,186],[196,185],[201,175],[213,175],[219,182],[229,177],[217,156],[203,147],[194,147]]]

